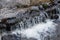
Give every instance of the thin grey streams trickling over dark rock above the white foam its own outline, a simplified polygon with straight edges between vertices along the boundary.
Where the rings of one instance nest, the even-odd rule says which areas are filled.
[[[49,18],[48,14],[44,11],[35,12],[35,14],[34,15],[29,14],[29,13],[18,14],[17,20],[19,20],[20,22],[18,22],[19,26],[17,26],[17,28],[19,29],[19,27],[20,27],[20,28],[26,29],[26,28],[29,28],[31,26],[34,26],[35,24],[45,22],[45,20]]]

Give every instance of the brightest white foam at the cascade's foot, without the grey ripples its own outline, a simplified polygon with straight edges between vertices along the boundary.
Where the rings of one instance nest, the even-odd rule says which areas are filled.
[[[50,28],[51,30],[49,30],[48,28]],[[12,33],[13,34],[19,33],[22,36],[25,36],[27,38],[32,37],[32,38],[41,40],[40,33],[46,32],[46,31],[51,31],[51,32],[56,31],[56,24],[53,23],[51,20],[47,20],[47,23],[39,23],[39,24],[34,25],[32,28],[16,30]],[[48,34],[46,33],[45,35],[48,35]]]

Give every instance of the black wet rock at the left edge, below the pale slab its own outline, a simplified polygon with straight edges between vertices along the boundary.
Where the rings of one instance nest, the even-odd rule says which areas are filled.
[[[0,29],[5,29],[6,31],[11,31],[11,26],[16,24],[16,20],[14,20],[14,18],[4,18],[1,19],[0,22]]]

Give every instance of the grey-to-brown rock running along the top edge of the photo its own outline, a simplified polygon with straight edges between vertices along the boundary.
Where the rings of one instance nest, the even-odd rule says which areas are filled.
[[[38,5],[40,3],[50,3],[50,0],[1,0],[0,4],[3,7],[7,8],[15,8],[16,6],[19,7],[26,7],[30,5]]]

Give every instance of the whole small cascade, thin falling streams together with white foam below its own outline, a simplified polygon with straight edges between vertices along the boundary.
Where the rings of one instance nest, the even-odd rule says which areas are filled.
[[[33,18],[29,17],[28,20],[22,19],[26,24],[21,21],[19,23],[21,30],[17,28],[12,32],[12,34],[21,34],[21,37],[26,37],[27,39],[35,38],[36,40],[49,40],[49,38],[53,35],[53,37],[55,36],[55,39],[57,24],[53,23],[53,20],[47,19],[48,15],[46,15],[46,12],[41,11],[39,13],[40,14],[38,16],[35,15]],[[23,39],[21,38],[21,40]]]

